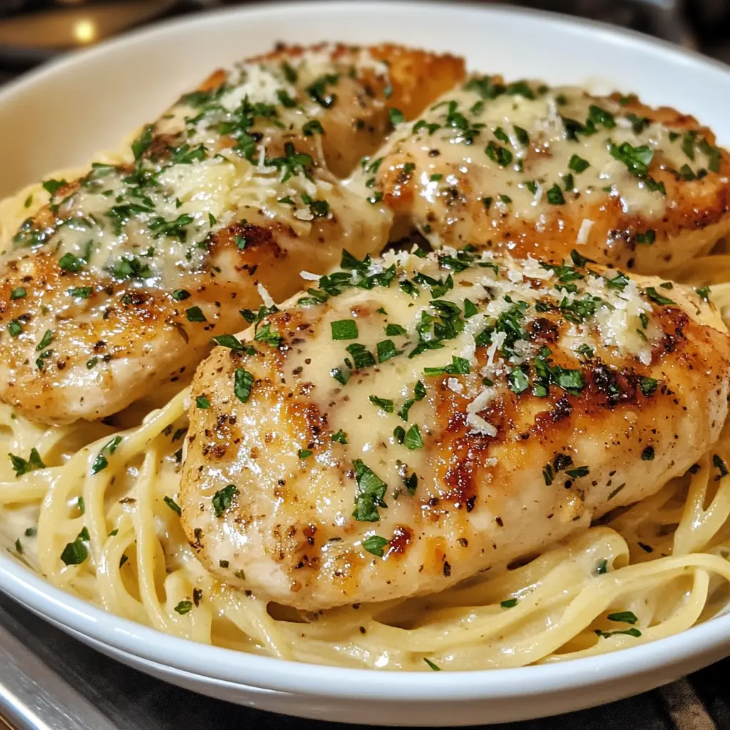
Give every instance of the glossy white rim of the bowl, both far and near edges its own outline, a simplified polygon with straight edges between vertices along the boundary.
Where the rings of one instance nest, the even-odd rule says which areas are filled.
[[[356,0],[354,2],[317,1],[307,3],[307,12],[328,12],[347,15],[350,12],[392,11],[387,0]],[[593,20],[576,19],[553,12],[520,7],[475,7],[444,1],[424,2],[404,0],[399,11],[407,9],[435,16],[446,12],[464,16],[488,14],[505,19],[530,20],[545,24],[546,32],[559,26],[573,31],[590,32],[623,47],[642,44],[645,52],[655,54],[659,61],[690,66],[700,74],[730,82],[730,66],[704,57],[693,50],[676,47],[637,31],[615,28]],[[174,35],[188,26],[196,29],[215,27],[227,18],[238,15],[258,15],[271,20],[302,10],[296,0],[264,4],[257,2],[245,7],[227,8],[158,23],[142,30],[102,42],[89,49],[74,51],[64,58],[11,82],[0,91],[0,105],[20,96],[34,85],[53,79],[57,74],[73,73],[81,64],[123,50],[150,38]],[[291,18],[289,18],[291,20]],[[626,680],[644,675],[670,664],[679,664],[703,653],[718,649],[730,655],[730,614],[712,618],[699,626],[636,647],[612,653],[584,657],[551,664],[538,664],[510,669],[481,669],[446,672],[390,672],[374,669],[342,668],[322,664],[289,661],[269,656],[204,645],[189,639],[174,637],[162,631],[134,623],[108,613],[101,607],[85,602],[62,591],[34,573],[18,559],[0,555],[0,591],[24,607],[60,626],[133,657],[188,672],[214,683],[231,683],[260,689],[298,693],[332,699],[378,699],[390,702],[455,702],[469,699],[504,699],[526,695],[549,694],[561,689],[588,688],[597,683]],[[418,682],[414,681],[418,677]]]

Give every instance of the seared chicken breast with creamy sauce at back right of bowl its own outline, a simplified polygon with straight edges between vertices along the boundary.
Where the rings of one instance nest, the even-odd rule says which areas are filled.
[[[730,233],[730,155],[635,96],[471,77],[366,158],[353,186],[434,247],[661,275]]]

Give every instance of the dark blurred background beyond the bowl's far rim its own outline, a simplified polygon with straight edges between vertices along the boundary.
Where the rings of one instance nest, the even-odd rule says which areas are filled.
[[[133,28],[237,4],[245,1],[0,0],[0,83],[58,54]],[[634,28],[730,63],[730,0],[518,0],[512,4]]]

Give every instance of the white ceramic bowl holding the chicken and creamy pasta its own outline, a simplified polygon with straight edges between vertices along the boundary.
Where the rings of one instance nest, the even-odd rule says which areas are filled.
[[[78,53],[0,93],[0,196],[82,164],[221,64],[278,40],[392,40],[466,55],[507,77],[636,91],[730,145],[730,69],[639,34],[501,7],[273,4],[166,23]],[[373,672],[196,645],[105,613],[0,555],[0,588],[83,642],[182,687],[264,710],[385,725],[496,723],[647,691],[730,654],[730,615],[606,656],[488,672]]]

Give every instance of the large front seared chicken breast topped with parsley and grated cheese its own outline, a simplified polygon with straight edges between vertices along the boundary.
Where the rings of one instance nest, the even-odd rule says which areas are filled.
[[[730,337],[688,288],[577,252],[342,264],[193,380],[183,524],[231,585],[302,610],[440,591],[720,434]]]

